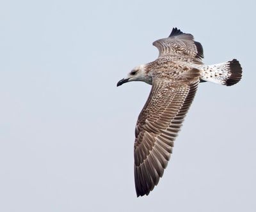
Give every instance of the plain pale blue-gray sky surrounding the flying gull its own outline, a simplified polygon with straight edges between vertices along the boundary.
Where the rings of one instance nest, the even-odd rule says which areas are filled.
[[[256,211],[255,1],[1,1],[0,211]],[[136,198],[150,86],[116,82],[179,27],[236,86],[200,84],[171,161]]]

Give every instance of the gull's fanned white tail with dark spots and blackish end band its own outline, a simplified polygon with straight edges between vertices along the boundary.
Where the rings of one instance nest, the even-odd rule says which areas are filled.
[[[204,66],[201,72],[201,80],[233,86],[242,78],[242,68],[236,59],[225,63]]]

